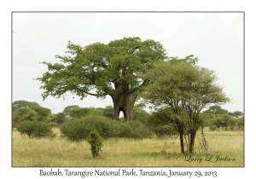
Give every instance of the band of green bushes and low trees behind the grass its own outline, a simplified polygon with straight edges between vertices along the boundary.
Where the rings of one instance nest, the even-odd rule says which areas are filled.
[[[91,130],[98,131],[103,138],[139,139],[178,135],[174,126],[165,123],[166,119],[160,118],[162,112],[148,113],[145,107],[143,102],[137,103],[134,107],[134,121],[125,124],[114,120],[113,107],[110,105],[97,108],[72,105],[64,107],[61,113],[51,113],[49,108],[41,107],[34,101],[14,101],[12,125],[30,138],[53,136],[50,129],[60,128],[61,133],[71,141],[86,139]],[[231,113],[219,106],[209,107],[200,113],[200,118],[210,130],[242,130],[244,124],[243,113]],[[124,118],[121,120],[124,121]],[[79,129],[83,132],[79,132]]]

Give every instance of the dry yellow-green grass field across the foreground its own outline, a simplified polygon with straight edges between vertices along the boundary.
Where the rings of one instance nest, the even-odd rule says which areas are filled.
[[[54,138],[20,136],[13,130],[12,165],[16,166],[244,166],[243,131],[208,131],[207,153],[180,154],[178,138],[108,139],[93,159],[86,141],[72,142],[54,129]],[[198,142],[196,142],[198,146]],[[212,158],[211,158],[212,157]]]

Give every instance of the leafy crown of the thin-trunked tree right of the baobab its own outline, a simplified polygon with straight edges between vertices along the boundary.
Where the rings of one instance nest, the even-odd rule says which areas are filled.
[[[177,109],[186,104],[201,111],[212,103],[230,101],[216,84],[218,78],[213,71],[188,62],[158,62],[145,76],[151,84],[144,88],[142,95],[156,107],[175,103]]]

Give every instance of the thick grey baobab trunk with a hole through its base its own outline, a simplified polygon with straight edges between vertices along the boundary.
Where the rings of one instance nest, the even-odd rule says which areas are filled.
[[[119,113],[124,113],[124,122],[133,120],[133,107],[137,98],[135,92],[124,93],[122,90],[115,90],[111,95],[113,100],[114,119],[119,120]]]

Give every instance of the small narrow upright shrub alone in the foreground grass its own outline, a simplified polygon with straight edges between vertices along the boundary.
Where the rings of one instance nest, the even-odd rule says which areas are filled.
[[[92,153],[92,156],[94,158],[96,158],[99,153],[102,151],[102,138],[99,135],[99,133],[97,131],[91,131],[89,133],[89,135],[86,137],[86,141],[88,141],[88,143],[90,143],[90,150]]]

